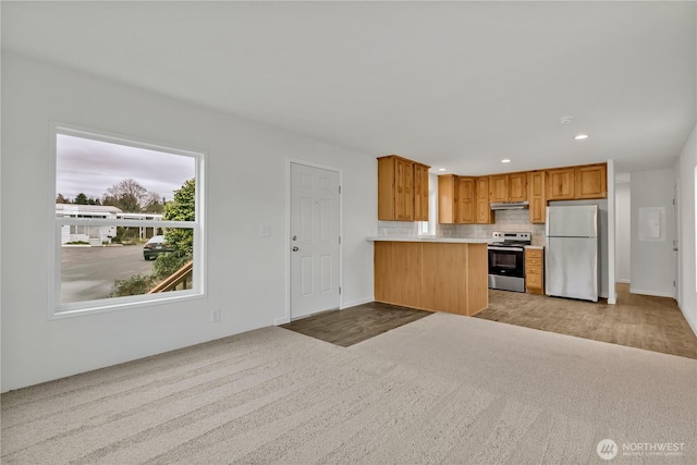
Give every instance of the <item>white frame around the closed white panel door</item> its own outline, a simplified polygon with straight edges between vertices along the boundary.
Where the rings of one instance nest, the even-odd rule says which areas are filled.
[[[285,311],[281,318],[273,320],[274,325],[284,325],[291,322],[291,164],[303,164],[305,167],[318,168],[320,170],[333,171],[339,173],[339,308],[344,306],[344,196],[343,184],[344,173],[341,169],[329,167],[327,164],[316,163],[314,161],[302,160],[299,158],[285,158],[285,238],[283,245],[285,247]]]

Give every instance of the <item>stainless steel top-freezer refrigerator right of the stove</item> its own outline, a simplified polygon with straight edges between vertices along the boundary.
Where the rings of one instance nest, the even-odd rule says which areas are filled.
[[[598,206],[547,207],[545,293],[598,302]]]

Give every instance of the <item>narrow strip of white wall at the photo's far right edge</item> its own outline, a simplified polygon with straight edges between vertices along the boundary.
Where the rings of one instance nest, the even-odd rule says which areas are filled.
[[[697,125],[683,148],[675,163],[677,184],[680,188],[680,283],[677,304],[685,319],[697,334],[697,283],[695,266],[697,250],[695,249],[695,168],[697,167]]]

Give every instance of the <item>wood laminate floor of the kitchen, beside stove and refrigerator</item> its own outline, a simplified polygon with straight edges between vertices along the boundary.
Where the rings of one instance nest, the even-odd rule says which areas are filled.
[[[616,284],[617,303],[489,290],[476,318],[697,358],[697,336],[674,299],[631,294]]]

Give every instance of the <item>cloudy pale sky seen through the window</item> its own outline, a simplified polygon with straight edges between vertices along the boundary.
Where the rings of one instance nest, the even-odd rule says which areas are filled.
[[[56,195],[101,198],[109,187],[133,179],[170,200],[194,178],[195,163],[193,157],[58,134]]]

